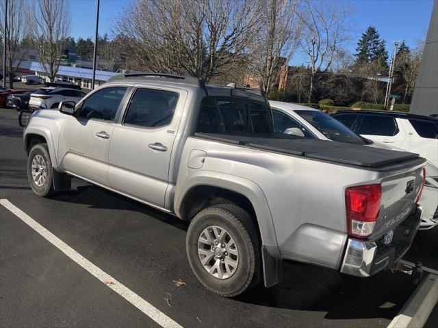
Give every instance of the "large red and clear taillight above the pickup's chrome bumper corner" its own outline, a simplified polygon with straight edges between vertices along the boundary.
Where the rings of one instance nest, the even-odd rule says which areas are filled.
[[[366,238],[374,231],[381,208],[381,184],[348,187],[345,191],[348,234]]]

